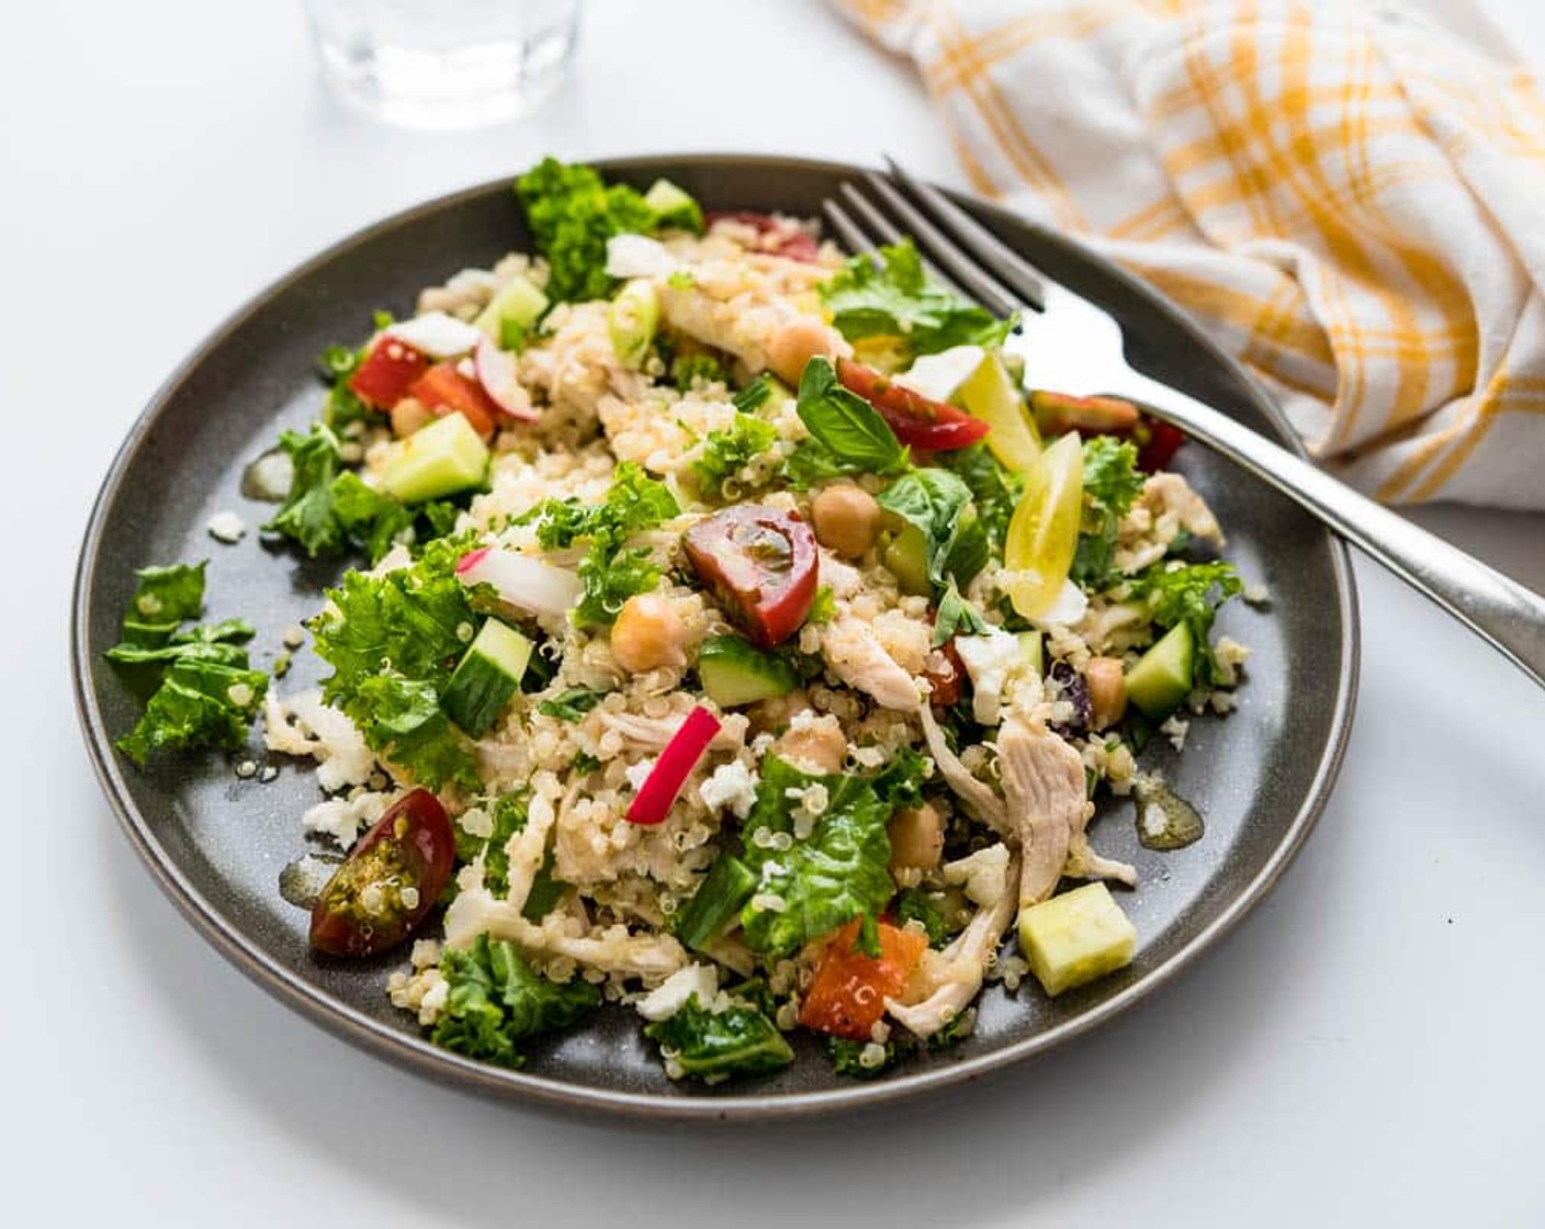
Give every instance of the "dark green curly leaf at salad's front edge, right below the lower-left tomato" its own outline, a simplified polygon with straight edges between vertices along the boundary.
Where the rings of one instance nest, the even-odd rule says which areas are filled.
[[[450,985],[434,1025],[434,1043],[470,1059],[519,1067],[521,1043],[569,1028],[601,1002],[599,988],[575,977],[552,982],[527,965],[514,945],[477,935],[440,957]]]

